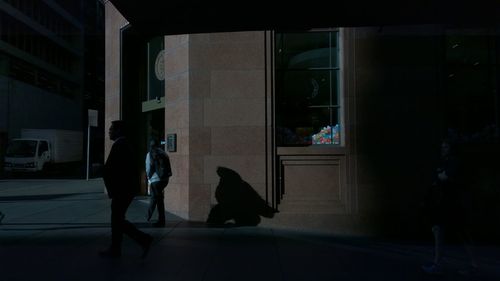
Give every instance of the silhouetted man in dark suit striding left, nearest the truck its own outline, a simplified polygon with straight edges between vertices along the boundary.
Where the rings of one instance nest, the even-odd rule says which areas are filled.
[[[99,254],[102,257],[119,257],[123,234],[127,234],[142,247],[145,257],[153,237],[125,219],[128,207],[139,192],[140,177],[132,157],[132,147],[125,137],[123,121],[111,122],[109,138],[114,143],[104,164],[103,179],[111,198],[111,246]]]

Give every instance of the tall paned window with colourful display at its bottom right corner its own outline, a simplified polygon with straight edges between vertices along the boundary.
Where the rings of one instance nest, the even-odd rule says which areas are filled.
[[[276,34],[279,146],[340,145],[338,31]]]

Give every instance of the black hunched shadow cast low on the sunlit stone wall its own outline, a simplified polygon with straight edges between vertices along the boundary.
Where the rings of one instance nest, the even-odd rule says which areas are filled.
[[[234,170],[218,167],[219,185],[215,190],[215,205],[208,215],[207,223],[211,226],[255,226],[261,221],[260,216],[274,217],[274,210],[264,199]]]

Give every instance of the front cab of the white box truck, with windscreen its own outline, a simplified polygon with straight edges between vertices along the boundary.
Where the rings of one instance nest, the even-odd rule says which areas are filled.
[[[37,172],[51,161],[49,141],[44,139],[13,139],[7,146],[6,172]]]

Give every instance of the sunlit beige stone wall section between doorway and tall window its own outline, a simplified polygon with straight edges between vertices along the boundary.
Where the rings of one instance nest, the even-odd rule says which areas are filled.
[[[170,153],[168,211],[206,220],[218,166],[235,170],[265,196],[264,34],[165,38],[165,127],[178,137],[178,151]]]

